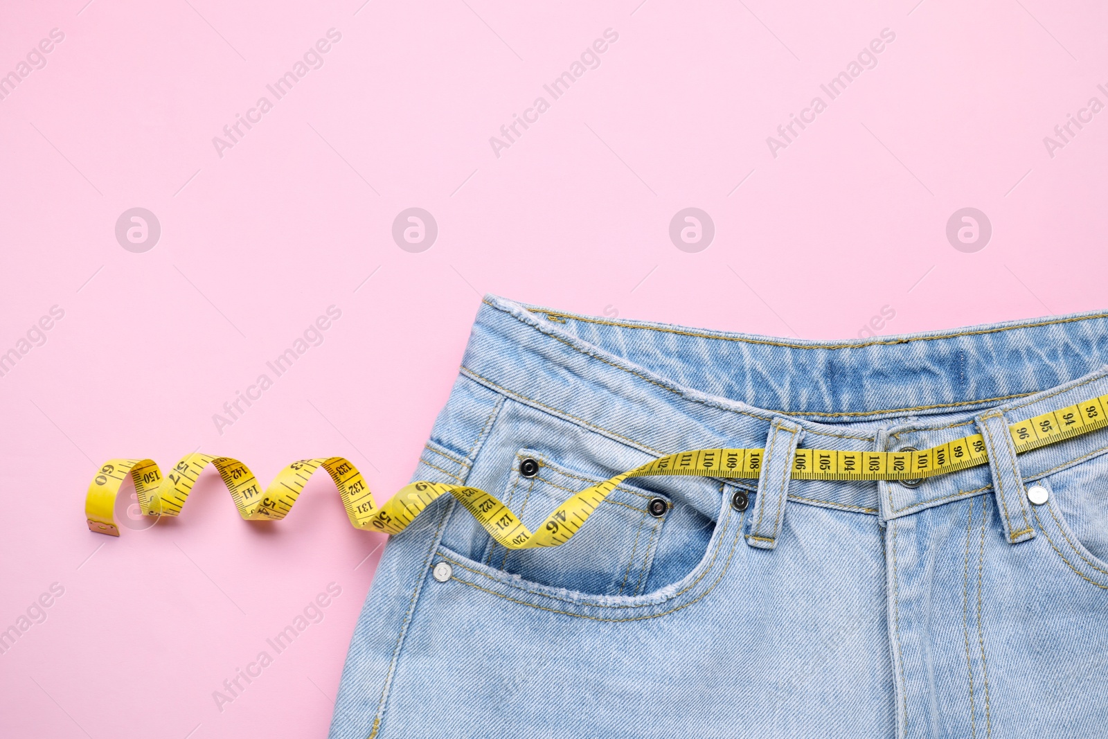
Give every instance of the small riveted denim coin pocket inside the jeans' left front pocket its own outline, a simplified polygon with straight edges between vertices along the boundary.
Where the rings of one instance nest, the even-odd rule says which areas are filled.
[[[533,476],[521,472],[524,460],[537,463]],[[541,452],[523,449],[513,460],[501,500],[534,531],[572,495],[601,482],[602,479],[557,465]],[[660,516],[652,515],[647,507],[654,499],[666,505]],[[507,550],[490,537],[481,562],[551,587],[591,595],[638,595],[649,577],[669,509],[666,496],[623,484],[608,494],[567,543],[557,547]]]

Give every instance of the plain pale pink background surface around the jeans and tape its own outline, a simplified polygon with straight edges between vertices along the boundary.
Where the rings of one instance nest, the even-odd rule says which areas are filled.
[[[64,588],[0,655],[0,735],[324,735],[383,541],[330,482],[252,525],[208,473],[178,520],[120,538],[86,530],[85,487],[109,458],[199,448],[263,482],[346,455],[388,496],[485,291],[803,338],[855,337],[882,308],[880,333],[1108,307],[1108,111],[1044,144],[1108,103],[1102,3],[235,4],[0,10],[0,74],[64,33],[0,100],[0,352],[64,311],[0,377],[0,628]],[[324,65],[220,157],[213,136],[331,28]],[[497,157],[490,136],[540,95]],[[815,95],[774,157],[767,136]],[[141,254],[114,234],[136,206],[162,228]],[[418,254],[391,236],[412,206],[439,226]],[[696,254],[668,235],[688,206],[716,228]],[[945,235],[967,206],[993,227],[976,253]],[[220,434],[213,414],[330,305],[322,345]],[[324,620],[220,711],[213,691],[331,582]]]

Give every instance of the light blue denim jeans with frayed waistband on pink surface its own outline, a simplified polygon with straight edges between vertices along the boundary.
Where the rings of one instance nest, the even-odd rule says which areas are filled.
[[[1108,430],[1006,435],[1108,392],[1106,357],[1108,314],[821,342],[490,296],[413,479],[534,526],[670,452],[786,474],[635,479],[546,550],[440,499],[386,547],[331,737],[1106,737]],[[975,432],[988,465],[917,486],[787,474]]]

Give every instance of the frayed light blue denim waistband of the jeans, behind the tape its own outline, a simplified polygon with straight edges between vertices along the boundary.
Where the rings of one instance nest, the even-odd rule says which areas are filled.
[[[1108,393],[1108,314],[809,341],[611,320],[486,296],[462,362],[473,380],[652,455],[766,443],[774,419],[806,448],[926,449]],[[1019,456],[1032,480],[1105,451],[1104,432]],[[789,497],[907,515],[987,492],[987,466],[896,482],[793,481]]]

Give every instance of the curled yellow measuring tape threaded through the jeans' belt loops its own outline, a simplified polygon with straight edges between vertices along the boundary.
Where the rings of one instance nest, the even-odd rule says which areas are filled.
[[[1016,452],[1026,452],[1108,427],[1108,394],[1036,415],[1008,427]],[[453,495],[485,531],[510,550],[530,550],[564,544],[622,482],[629,478],[695,475],[701,478],[757,479],[761,449],[698,449],[678,452],[617,474],[586,487],[557,506],[531,532],[494,495],[465,485],[413,482],[383,505],[378,505],[361,473],[341,456],[293,462],[281,470],[265,492],[249,468],[228,456],[193,453],[163,478],[153,460],[109,460],[89,484],[85,515],[89,528],[120,535],[115,524],[115,495],[131,475],[144,516],[177,515],[196,479],[208,464],[215,466],[230,491],[239,515],[247,521],[284,519],[312,473],[322,468],[342,497],[356,528],[397,534],[441,495]],[[792,462],[793,480],[917,480],[985,464],[988,455],[979,433],[922,451],[845,452],[798,449]]]

